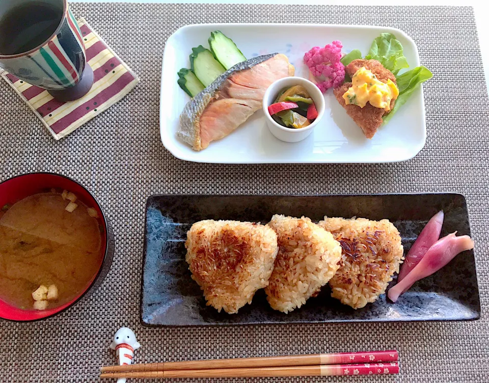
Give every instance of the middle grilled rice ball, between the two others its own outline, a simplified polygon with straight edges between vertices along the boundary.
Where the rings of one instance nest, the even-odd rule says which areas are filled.
[[[341,247],[331,233],[306,217],[274,215],[268,226],[277,233],[279,254],[265,292],[271,308],[288,313],[334,276]]]

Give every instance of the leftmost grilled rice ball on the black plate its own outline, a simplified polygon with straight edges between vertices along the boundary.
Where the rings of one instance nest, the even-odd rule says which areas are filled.
[[[251,304],[268,284],[277,257],[277,234],[268,226],[237,221],[201,221],[187,233],[185,257],[207,305],[228,314]]]

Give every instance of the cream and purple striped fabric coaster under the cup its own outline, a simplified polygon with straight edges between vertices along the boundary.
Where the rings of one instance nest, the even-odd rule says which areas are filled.
[[[87,61],[94,73],[92,89],[82,98],[69,102],[57,101],[46,90],[25,83],[6,71],[0,72],[56,140],[107,110],[140,81],[84,18],[78,20],[78,25],[85,40]]]

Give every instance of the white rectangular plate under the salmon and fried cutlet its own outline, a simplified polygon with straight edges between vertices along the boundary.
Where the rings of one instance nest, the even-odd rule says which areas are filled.
[[[343,52],[360,49],[365,56],[372,41],[383,32],[393,33],[404,47],[410,68],[420,65],[418,48],[404,32],[381,26],[321,24],[198,24],[187,25],[167,40],[161,73],[161,142],[177,158],[209,163],[347,163],[399,162],[413,158],[426,141],[423,90],[419,87],[396,115],[368,140],[347,116],[332,90],[325,93],[326,112],[313,133],[299,143],[273,136],[260,110],[222,140],[197,152],[176,138],[179,116],[190,97],[177,84],[180,68],[189,68],[192,48],[204,45],[212,31],[231,38],[248,59],[267,53],[284,53],[295,75],[308,77],[304,53],[334,40]]]

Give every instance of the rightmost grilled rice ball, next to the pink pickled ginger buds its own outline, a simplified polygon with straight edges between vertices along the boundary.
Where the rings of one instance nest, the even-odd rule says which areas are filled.
[[[384,294],[404,259],[395,226],[389,220],[328,217],[318,225],[331,232],[342,248],[340,268],[330,280],[331,296],[360,309]]]

